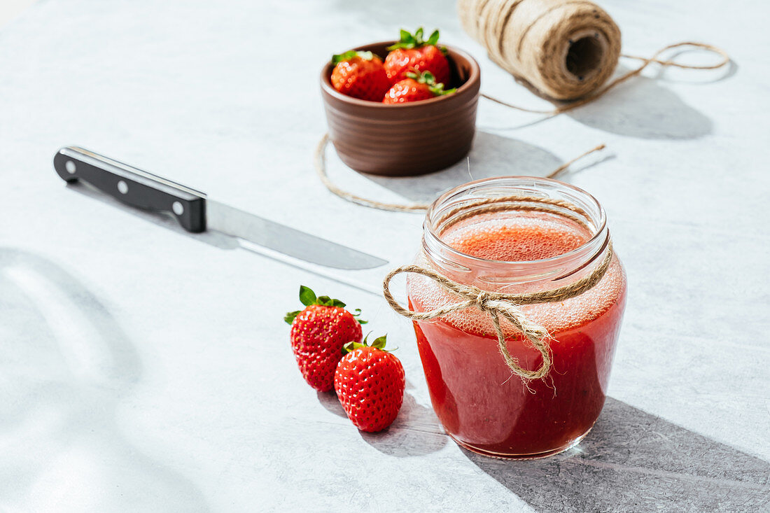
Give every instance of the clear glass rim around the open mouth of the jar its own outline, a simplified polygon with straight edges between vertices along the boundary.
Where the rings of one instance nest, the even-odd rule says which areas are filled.
[[[434,230],[434,224],[436,222],[434,216],[440,210],[441,206],[444,206],[444,204],[454,196],[459,196],[460,194],[479,186],[488,186],[491,189],[496,185],[505,185],[513,186],[515,188],[515,185],[511,182],[515,182],[517,180],[522,182],[522,186],[525,183],[532,187],[537,187],[537,185],[551,186],[551,188],[555,190],[560,190],[560,192],[566,193],[567,196],[573,196],[575,199],[583,199],[584,203],[588,203],[587,206],[591,210],[594,210],[596,217],[596,219],[594,219],[594,216],[591,216],[590,218],[591,224],[595,226],[593,229],[590,229],[592,231],[591,238],[573,250],[555,255],[554,257],[538,260],[490,260],[482,257],[476,257],[474,255],[470,255],[469,253],[463,253],[462,251],[454,249],[454,247],[445,243],[444,240],[441,239],[440,234]],[[428,238],[431,243],[437,244],[442,252],[445,252],[453,257],[459,257],[460,259],[464,259],[469,262],[494,266],[510,265],[516,267],[537,267],[549,265],[551,263],[562,262],[564,260],[571,260],[574,257],[581,257],[584,253],[587,252],[588,248],[599,245],[599,250],[594,255],[594,257],[598,256],[598,254],[604,250],[604,246],[606,246],[606,241],[608,240],[609,236],[607,230],[607,214],[604,212],[604,207],[601,206],[601,203],[599,203],[598,199],[596,199],[591,193],[588,193],[588,191],[585,189],[581,189],[580,187],[571,185],[569,183],[561,182],[560,180],[541,178],[539,176],[494,176],[491,178],[482,178],[472,182],[463,183],[459,186],[447,190],[445,193],[438,196],[428,207],[427,213],[425,214],[425,219],[423,220],[423,243],[428,242],[426,238]]]

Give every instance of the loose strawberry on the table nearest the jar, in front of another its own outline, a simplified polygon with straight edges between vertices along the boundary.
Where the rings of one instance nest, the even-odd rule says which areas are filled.
[[[373,433],[390,426],[403,402],[401,362],[385,347],[385,337],[345,345],[346,354],[334,373],[334,390],[347,417],[361,431]]]

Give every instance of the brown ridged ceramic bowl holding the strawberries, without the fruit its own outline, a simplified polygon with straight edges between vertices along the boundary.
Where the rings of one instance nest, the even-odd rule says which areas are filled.
[[[356,50],[384,60],[393,43]],[[473,57],[451,46],[447,50],[452,70],[447,89],[457,87],[457,92],[420,102],[386,105],[345,96],[331,85],[332,63],[323,67],[321,95],[329,136],[343,163],[363,173],[410,176],[444,169],[468,154],[481,74]]]

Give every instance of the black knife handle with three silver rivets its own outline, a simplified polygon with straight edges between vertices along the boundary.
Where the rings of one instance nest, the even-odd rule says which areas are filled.
[[[59,149],[53,167],[67,182],[81,179],[127,205],[169,212],[189,232],[206,231],[206,194],[195,189],[77,146]]]

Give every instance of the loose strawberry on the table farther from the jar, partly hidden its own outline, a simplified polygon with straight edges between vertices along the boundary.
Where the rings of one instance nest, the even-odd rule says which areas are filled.
[[[300,287],[304,310],[289,312],[283,320],[291,324],[291,347],[305,381],[318,391],[334,387],[334,371],[343,357],[343,347],[361,340],[361,313],[351,314],[345,303],[328,296],[316,297],[308,287]]]

